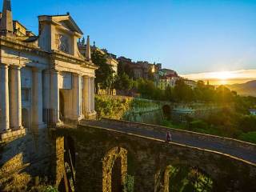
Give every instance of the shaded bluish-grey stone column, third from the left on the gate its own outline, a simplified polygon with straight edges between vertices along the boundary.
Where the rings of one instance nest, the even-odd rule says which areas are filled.
[[[42,70],[33,68],[32,87],[32,127],[43,126],[42,122]]]

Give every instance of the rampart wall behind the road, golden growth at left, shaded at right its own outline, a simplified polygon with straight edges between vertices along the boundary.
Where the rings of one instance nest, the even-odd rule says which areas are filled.
[[[99,118],[125,119],[132,122],[161,123],[162,103],[142,98],[97,95],[96,111]]]

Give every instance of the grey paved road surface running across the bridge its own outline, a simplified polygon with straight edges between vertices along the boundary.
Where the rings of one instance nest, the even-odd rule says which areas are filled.
[[[119,130],[125,133],[130,134],[138,134],[142,136],[146,136],[149,138],[158,138],[162,140],[166,140],[166,135],[159,133],[158,131],[154,130],[145,130],[143,128],[138,127],[131,127],[131,126],[124,126],[123,124],[119,123],[111,123],[111,122],[103,122],[103,121],[86,121],[82,122],[82,124],[88,126],[99,126],[104,127],[110,130]],[[223,142],[214,142],[210,140],[205,140],[202,138],[198,138],[196,136],[188,136],[188,135],[180,135],[180,134],[172,134],[173,142],[177,142],[179,144],[184,144],[187,146],[195,146],[206,150],[214,150],[221,152],[223,154],[229,154],[231,156],[242,158],[247,162],[252,162],[256,164],[256,153],[252,150],[245,150],[242,147],[234,147],[228,143]]]

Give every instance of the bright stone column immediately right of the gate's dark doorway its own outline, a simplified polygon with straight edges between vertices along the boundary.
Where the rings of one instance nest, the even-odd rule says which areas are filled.
[[[73,112],[72,119],[80,120],[82,118],[82,82],[79,74],[73,74]]]

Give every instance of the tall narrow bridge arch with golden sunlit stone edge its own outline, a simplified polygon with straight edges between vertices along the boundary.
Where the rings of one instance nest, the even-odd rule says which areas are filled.
[[[127,150],[114,147],[109,150],[102,161],[102,191],[122,191],[127,174]],[[114,183],[112,183],[114,182]]]

